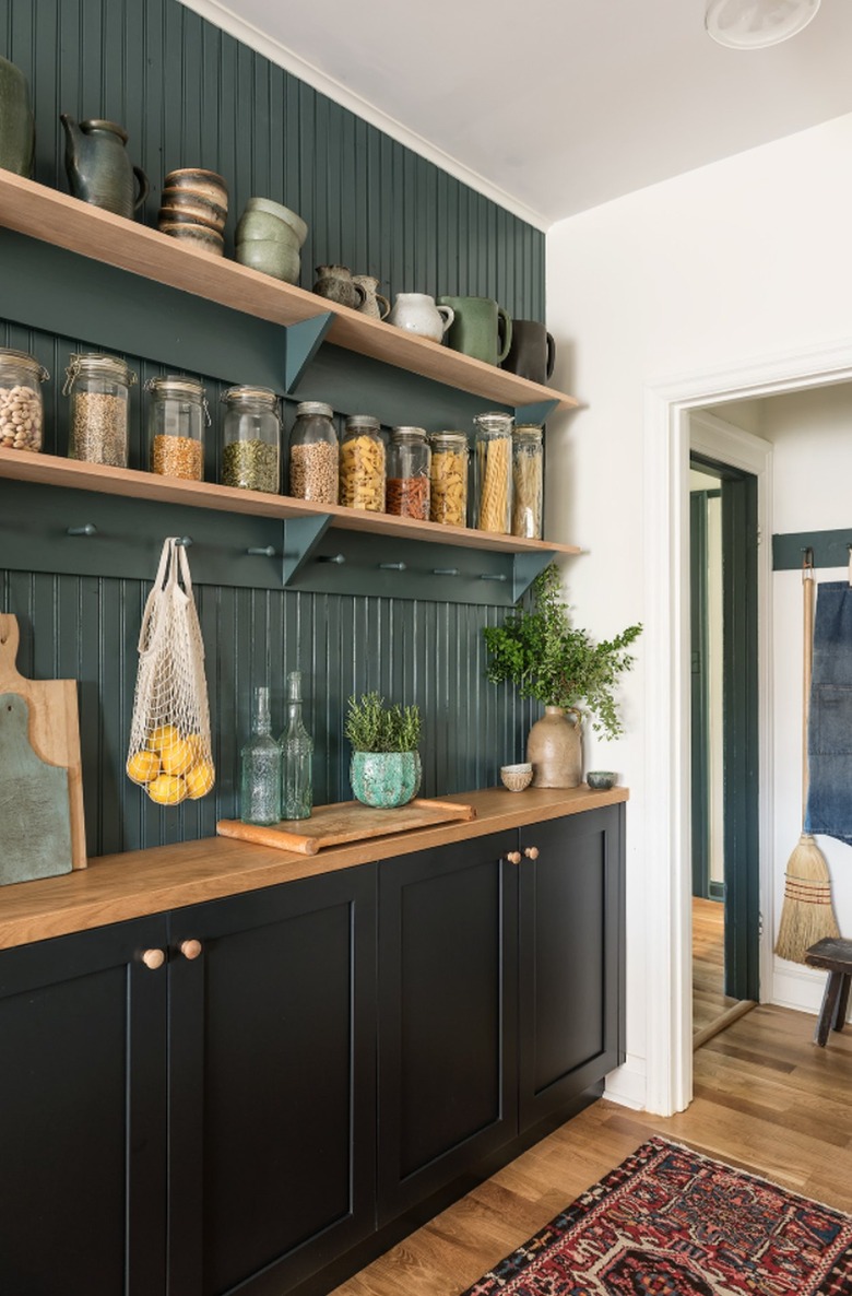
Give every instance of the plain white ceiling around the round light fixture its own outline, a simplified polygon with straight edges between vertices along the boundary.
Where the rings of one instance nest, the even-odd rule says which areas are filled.
[[[852,110],[852,0],[763,51],[703,0],[184,3],[545,228]]]

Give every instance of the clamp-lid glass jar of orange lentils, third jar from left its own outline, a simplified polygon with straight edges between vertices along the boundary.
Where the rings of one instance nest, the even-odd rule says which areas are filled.
[[[205,388],[197,378],[171,373],[149,378],[145,386],[151,472],[203,481],[205,428],[210,424]]]

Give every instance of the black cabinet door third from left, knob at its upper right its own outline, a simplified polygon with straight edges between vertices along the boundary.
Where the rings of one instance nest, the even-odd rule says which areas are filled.
[[[382,863],[379,1222],[517,1131],[517,833]]]

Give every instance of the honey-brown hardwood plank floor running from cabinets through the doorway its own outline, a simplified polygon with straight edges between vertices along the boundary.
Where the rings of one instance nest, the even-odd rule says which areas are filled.
[[[852,1029],[760,1006],[695,1054],[671,1118],[601,1100],[356,1274],[335,1296],[458,1296],[653,1134],[852,1213]]]

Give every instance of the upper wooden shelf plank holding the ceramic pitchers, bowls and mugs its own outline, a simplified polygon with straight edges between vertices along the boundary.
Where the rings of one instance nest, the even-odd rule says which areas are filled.
[[[562,391],[359,315],[234,260],[198,251],[158,229],[3,168],[0,226],[273,324],[286,327],[330,312],[335,318],[329,342],[500,404],[518,408],[555,400],[557,410],[577,404]]]

